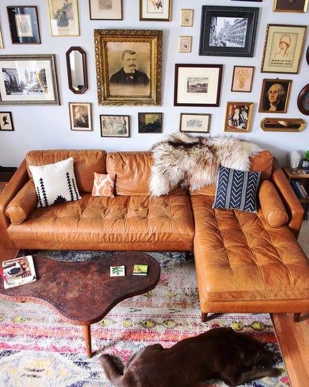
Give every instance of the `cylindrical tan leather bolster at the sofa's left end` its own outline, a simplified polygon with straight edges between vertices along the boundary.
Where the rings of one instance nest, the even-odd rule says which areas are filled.
[[[12,224],[21,224],[36,208],[37,204],[36,189],[31,179],[21,188],[16,197],[10,201],[5,209],[5,215],[10,218]]]

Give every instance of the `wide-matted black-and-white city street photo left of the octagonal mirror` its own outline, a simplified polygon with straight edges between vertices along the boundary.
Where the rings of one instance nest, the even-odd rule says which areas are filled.
[[[0,104],[60,104],[55,56],[1,55]]]

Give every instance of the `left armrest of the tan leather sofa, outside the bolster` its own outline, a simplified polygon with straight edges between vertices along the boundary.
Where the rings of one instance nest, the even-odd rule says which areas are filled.
[[[29,179],[27,174],[27,168],[25,160],[21,163],[19,168],[16,170],[12,179],[6,184],[4,190],[0,195],[0,235],[3,247],[14,248],[14,243],[8,236],[8,226],[10,225],[9,219],[5,216],[5,209],[7,208],[10,201],[15,197],[17,192],[25,185]]]

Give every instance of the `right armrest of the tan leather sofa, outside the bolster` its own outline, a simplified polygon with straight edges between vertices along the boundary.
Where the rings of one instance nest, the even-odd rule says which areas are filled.
[[[288,227],[297,238],[304,217],[304,208],[302,208],[299,199],[297,199],[277,159],[274,159],[273,162],[272,179],[288,212]]]

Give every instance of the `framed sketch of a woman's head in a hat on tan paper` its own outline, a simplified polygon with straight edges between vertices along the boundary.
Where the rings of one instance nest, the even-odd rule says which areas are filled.
[[[298,74],[306,31],[306,25],[268,24],[261,72]]]

